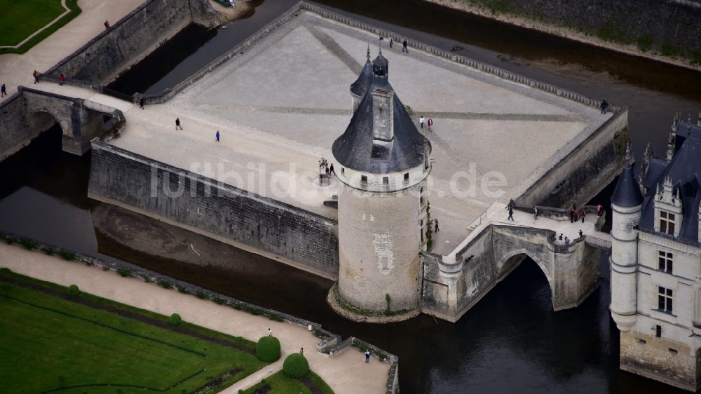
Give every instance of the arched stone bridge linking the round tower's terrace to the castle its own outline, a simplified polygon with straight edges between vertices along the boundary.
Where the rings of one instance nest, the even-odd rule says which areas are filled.
[[[543,271],[554,311],[578,306],[596,290],[601,250],[610,250],[611,237],[599,231],[604,217],[597,217],[594,207],[576,223],[563,210],[545,207],[538,219],[517,209],[512,222],[505,220],[505,209],[492,205],[454,253],[424,255],[423,311],[458,320],[525,257]],[[559,240],[560,234],[569,243]]]

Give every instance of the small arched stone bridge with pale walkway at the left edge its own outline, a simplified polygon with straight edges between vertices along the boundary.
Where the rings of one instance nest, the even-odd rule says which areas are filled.
[[[0,107],[1,114],[12,120],[0,125],[0,159],[29,144],[54,123],[63,133],[62,149],[82,155],[90,149],[90,140],[118,130],[125,122],[121,110],[97,102],[102,98],[118,101],[112,97],[73,86],[59,89],[40,83],[36,87],[18,87],[18,93]]]

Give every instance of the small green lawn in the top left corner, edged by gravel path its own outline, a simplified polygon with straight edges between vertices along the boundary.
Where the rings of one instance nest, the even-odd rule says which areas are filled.
[[[81,13],[77,0],[66,0],[71,12],[32,37],[20,48],[0,48],[1,53],[25,53]],[[0,0],[0,46],[15,46],[64,13],[61,0]],[[102,24],[102,21],[95,23]]]

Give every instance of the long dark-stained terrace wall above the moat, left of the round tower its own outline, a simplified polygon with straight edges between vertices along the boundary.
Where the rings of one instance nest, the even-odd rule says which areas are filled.
[[[326,278],[337,278],[336,222],[93,140],[88,196]]]

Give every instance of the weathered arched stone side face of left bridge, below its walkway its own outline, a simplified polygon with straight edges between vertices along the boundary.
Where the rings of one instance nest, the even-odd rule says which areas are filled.
[[[76,97],[67,97],[20,86],[24,100],[25,137],[32,140],[54,122],[63,132],[62,149],[82,155],[90,150],[90,140],[102,137],[124,122],[118,109]],[[20,133],[18,133],[20,134]],[[27,142],[28,142],[27,141]]]

